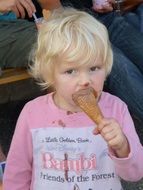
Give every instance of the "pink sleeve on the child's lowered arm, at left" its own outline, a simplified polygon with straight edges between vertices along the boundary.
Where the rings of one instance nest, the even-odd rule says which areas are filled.
[[[26,121],[26,108],[20,114],[6,160],[4,190],[29,190],[32,178],[32,140]]]

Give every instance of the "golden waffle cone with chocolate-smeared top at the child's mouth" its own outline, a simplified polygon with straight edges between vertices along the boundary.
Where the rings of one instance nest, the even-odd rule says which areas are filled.
[[[97,104],[97,93],[92,89],[79,90],[72,96],[78,105],[97,125],[103,119],[101,110]]]

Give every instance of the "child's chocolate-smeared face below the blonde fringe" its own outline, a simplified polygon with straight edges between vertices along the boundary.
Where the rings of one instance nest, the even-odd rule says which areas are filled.
[[[89,87],[100,96],[106,78],[105,66],[100,59],[88,65],[77,63],[57,63],[54,70],[54,101],[58,107],[67,111],[79,111],[72,100],[72,94]]]

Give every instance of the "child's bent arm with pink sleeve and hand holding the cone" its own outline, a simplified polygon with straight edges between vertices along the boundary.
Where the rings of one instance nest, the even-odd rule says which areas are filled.
[[[117,174],[124,180],[137,181],[143,177],[143,147],[126,106],[122,114],[122,128],[114,119],[103,119],[98,130],[108,143]]]

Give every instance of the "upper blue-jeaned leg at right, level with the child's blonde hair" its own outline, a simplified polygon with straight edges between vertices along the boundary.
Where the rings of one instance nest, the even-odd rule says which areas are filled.
[[[115,16],[108,31],[112,44],[118,47],[143,74],[142,33],[129,24],[123,16]]]

